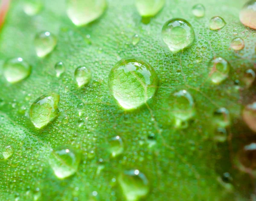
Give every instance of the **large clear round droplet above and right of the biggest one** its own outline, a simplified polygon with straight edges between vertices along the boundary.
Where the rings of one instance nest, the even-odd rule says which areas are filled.
[[[174,18],[163,25],[162,38],[172,52],[178,52],[194,43],[195,32],[189,22]]]

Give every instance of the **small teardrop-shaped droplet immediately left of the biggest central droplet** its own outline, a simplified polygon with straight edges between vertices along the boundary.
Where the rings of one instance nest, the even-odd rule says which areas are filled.
[[[91,80],[91,71],[85,66],[79,66],[75,70],[75,79],[79,87],[87,85]]]

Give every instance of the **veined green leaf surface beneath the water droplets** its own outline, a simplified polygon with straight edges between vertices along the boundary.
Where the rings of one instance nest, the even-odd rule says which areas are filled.
[[[108,0],[99,19],[76,27],[67,17],[64,0],[43,0],[34,16],[25,14],[23,1],[12,1],[0,35],[1,200],[255,198],[253,174],[237,161],[241,146],[255,138],[241,111],[255,101],[256,87],[249,87],[244,73],[255,71],[256,32],[239,20],[245,0],[197,3],[203,3],[204,17],[192,14],[194,1],[166,0],[144,24],[134,1]],[[226,22],[218,31],[209,29],[214,16]],[[164,23],[172,18],[185,19],[195,31],[195,42],[177,53],[161,38]],[[55,49],[44,58],[37,57],[34,44],[40,32],[57,38]],[[136,34],[140,40],[134,43]],[[230,48],[235,37],[244,40],[244,49]],[[8,83],[3,64],[17,57],[32,66],[31,75]],[[156,94],[131,111],[119,106],[108,87],[113,65],[127,57],[148,62],[159,79]],[[211,81],[216,57],[230,65],[219,84]],[[59,62],[65,72],[56,76]],[[81,87],[74,76],[79,66],[91,72],[90,82]],[[224,67],[220,64],[218,73]],[[29,109],[51,93],[60,96],[55,105],[60,113],[45,110],[51,121],[36,129]],[[253,125],[251,119],[246,121]],[[114,138],[121,140],[113,142]],[[61,147],[81,153],[81,162],[78,165],[80,155],[58,156],[58,167],[63,164],[61,168],[71,172],[59,179],[52,160]],[[135,175],[139,170],[140,176],[126,178],[125,172],[132,170]]]

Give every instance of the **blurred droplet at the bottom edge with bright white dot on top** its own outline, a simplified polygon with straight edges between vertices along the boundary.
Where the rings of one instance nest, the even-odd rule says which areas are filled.
[[[123,172],[118,181],[127,201],[138,201],[149,192],[148,179],[137,169]]]

